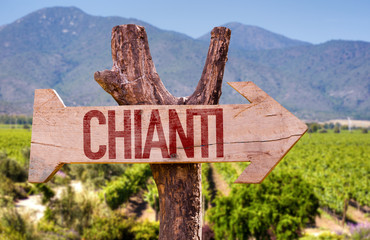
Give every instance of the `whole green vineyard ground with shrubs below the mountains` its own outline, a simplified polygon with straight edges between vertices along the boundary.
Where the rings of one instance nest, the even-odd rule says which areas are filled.
[[[65,165],[50,183],[28,184],[30,139],[27,128],[0,128],[0,238],[157,239],[157,222],[138,221],[127,213],[135,205],[133,197],[158,212],[148,165]],[[351,239],[351,234],[367,239],[369,159],[369,134],[328,130],[307,133],[262,184],[233,184],[248,163],[203,164],[203,239]],[[226,182],[227,196],[215,180]],[[72,181],[82,182],[84,191],[73,190]],[[30,224],[30,216],[19,214],[15,204],[38,194],[46,210],[38,223]],[[365,221],[348,214],[353,206]],[[320,213],[333,216],[343,226],[342,235],[305,235]]]

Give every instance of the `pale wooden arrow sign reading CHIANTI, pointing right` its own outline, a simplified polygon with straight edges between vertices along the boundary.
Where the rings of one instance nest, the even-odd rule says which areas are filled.
[[[29,182],[65,163],[249,161],[235,182],[260,183],[307,127],[254,83],[229,85],[251,104],[66,107],[36,90]]]

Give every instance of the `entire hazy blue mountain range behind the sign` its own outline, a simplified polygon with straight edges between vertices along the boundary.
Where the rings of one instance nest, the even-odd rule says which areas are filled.
[[[209,33],[194,39],[137,19],[53,7],[0,27],[0,113],[31,114],[38,88],[55,89],[66,106],[115,105],[93,75],[112,66],[112,27],[129,23],[145,27],[166,88],[175,96],[190,95],[202,73]],[[369,42],[311,44],[256,26],[224,26],[232,34],[221,104],[247,103],[226,82],[253,81],[302,119],[370,120]]]

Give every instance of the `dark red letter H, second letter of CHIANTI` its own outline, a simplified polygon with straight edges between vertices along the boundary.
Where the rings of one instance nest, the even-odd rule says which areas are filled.
[[[123,131],[116,131],[116,112],[108,111],[109,159],[116,158],[116,138],[124,138],[125,159],[131,158],[131,111],[123,111]]]

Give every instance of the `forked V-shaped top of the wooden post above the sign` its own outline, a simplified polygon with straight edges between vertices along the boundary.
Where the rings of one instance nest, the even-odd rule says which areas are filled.
[[[112,29],[111,70],[95,72],[94,78],[119,105],[217,104],[221,96],[222,78],[227,61],[231,31],[216,27],[202,76],[194,93],[186,102],[167,91],[155,69],[145,28],[121,25]]]

